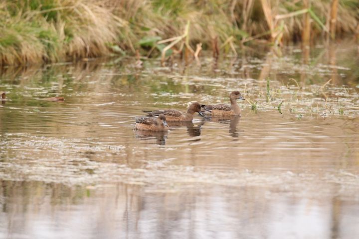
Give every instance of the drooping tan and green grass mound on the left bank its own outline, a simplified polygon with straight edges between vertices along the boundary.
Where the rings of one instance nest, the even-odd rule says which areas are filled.
[[[131,45],[126,21],[95,1],[8,0],[0,15],[1,65],[97,57],[113,44]]]

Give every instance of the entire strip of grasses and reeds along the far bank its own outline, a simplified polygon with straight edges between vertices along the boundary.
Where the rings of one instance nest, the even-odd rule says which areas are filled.
[[[4,0],[0,66],[359,37],[357,0]]]

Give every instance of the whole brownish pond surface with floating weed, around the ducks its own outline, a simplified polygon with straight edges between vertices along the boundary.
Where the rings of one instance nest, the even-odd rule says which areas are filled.
[[[200,60],[4,69],[0,238],[358,238],[358,46]],[[133,130],[233,90],[241,117]]]

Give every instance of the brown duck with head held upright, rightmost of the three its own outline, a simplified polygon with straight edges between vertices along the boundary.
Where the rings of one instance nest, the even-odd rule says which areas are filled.
[[[237,100],[245,100],[239,91],[233,91],[229,95],[231,105],[201,105],[205,110],[206,115],[211,116],[240,116],[241,110],[238,106]],[[203,113],[203,112],[202,112]]]

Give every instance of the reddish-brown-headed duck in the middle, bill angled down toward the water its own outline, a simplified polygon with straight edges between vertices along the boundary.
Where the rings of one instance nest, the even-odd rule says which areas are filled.
[[[166,116],[166,120],[169,122],[179,122],[179,121],[192,121],[194,113],[198,112],[198,114],[202,117],[204,115],[201,112],[201,106],[198,102],[192,103],[186,113],[182,113],[178,110],[157,110],[157,111],[142,111],[147,113],[147,117],[154,117],[159,115]]]

